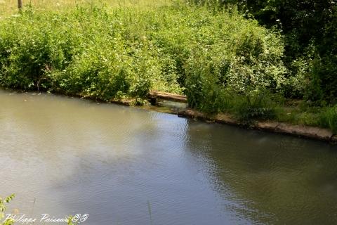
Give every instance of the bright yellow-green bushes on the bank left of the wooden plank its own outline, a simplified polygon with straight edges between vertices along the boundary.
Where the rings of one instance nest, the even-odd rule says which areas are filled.
[[[150,89],[181,93],[173,60],[128,21],[152,12],[126,13],[88,5],[62,12],[28,9],[1,21],[0,84],[105,101],[145,98]]]

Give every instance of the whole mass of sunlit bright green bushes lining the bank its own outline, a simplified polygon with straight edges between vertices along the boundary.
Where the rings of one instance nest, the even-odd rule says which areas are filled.
[[[107,101],[186,89],[192,106],[199,104],[197,92],[207,94],[195,89],[199,79],[213,77],[220,89],[239,92],[284,88],[282,40],[236,11],[91,5],[61,13],[27,9],[1,23],[3,86]]]

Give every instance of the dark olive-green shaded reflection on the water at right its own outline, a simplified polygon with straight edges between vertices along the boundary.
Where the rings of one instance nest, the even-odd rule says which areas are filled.
[[[201,162],[207,160],[213,189],[239,205],[224,205],[225,210],[257,224],[336,224],[336,147],[219,125],[198,126],[205,125],[189,126],[187,149]]]

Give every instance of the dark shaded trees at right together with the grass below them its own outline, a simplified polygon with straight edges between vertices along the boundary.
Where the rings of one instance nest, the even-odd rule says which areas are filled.
[[[236,7],[245,18],[256,19],[260,25],[282,34],[284,77],[291,84],[282,94],[301,101],[295,105],[291,101],[293,110],[277,113],[277,119],[329,127],[337,132],[336,1],[187,1],[213,10]]]

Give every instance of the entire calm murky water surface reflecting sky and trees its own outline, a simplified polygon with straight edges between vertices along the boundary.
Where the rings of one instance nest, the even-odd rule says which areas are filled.
[[[337,222],[337,148],[325,143],[46,94],[1,91],[0,104],[0,195],[31,217]]]

